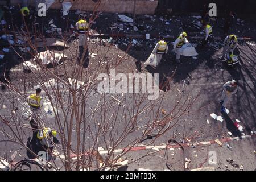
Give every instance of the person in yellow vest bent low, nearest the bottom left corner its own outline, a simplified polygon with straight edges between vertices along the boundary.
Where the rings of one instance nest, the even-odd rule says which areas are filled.
[[[42,130],[39,130],[36,134],[36,138],[38,138],[39,143],[42,146],[45,146],[47,148],[53,147],[53,137],[56,137],[57,132],[55,130],[51,130],[51,128],[44,128]]]

